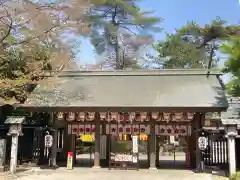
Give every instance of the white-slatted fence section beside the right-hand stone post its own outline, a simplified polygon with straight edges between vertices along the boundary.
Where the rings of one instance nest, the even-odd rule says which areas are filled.
[[[228,167],[227,138],[223,133],[206,133],[207,148],[202,152],[204,164],[209,167]]]

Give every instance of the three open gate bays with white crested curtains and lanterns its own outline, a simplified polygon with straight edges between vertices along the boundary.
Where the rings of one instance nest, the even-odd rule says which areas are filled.
[[[154,154],[158,168],[190,168],[188,144],[194,113],[156,112],[153,114],[154,123],[150,120],[152,119],[150,113],[146,112],[100,113],[102,167],[149,168],[152,135],[155,141]],[[68,124],[68,135],[73,136],[73,138],[70,137],[72,139],[70,146],[74,147],[74,150],[69,149],[69,151],[74,152],[75,167],[92,167],[96,143],[95,123],[89,118],[88,113],[77,115],[82,118],[82,121]]]

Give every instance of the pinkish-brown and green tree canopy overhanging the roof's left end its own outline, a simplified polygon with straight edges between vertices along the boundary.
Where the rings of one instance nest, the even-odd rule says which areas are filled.
[[[89,1],[0,1],[0,96],[23,101],[45,69],[62,69],[90,33]],[[31,85],[32,84],[32,85]]]

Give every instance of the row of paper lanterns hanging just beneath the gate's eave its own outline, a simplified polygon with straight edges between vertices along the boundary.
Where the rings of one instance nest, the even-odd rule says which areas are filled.
[[[100,119],[101,120],[107,120],[107,121],[138,121],[138,122],[144,122],[144,121],[149,121],[150,118],[148,116],[147,112],[130,112],[127,114],[121,114],[119,112],[100,112]],[[151,113],[152,119],[156,121],[183,121],[183,120],[192,120],[194,117],[194,113],[160,113],[160,112],[152,112]],[[59,112],[57,114],[57,119],[58,120],[64,120],[66,119],[67,121],[93,121],[95,119],[95,112],[68,112],[68,113],[63,113]]]

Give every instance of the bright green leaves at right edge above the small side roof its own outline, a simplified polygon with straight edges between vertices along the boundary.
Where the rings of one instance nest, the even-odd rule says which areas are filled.
[[[233,37],[231,41],[220,46],[220,50],[228,55],[223,72],[232,74],[227,90],[233,96],[240,96],[240,38]]]

